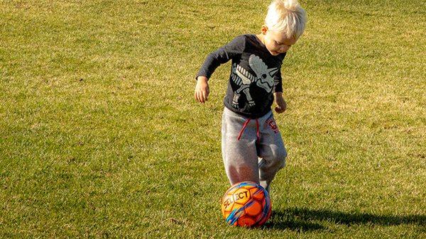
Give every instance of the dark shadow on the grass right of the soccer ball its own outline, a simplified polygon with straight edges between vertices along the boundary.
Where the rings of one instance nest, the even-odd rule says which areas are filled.
[[[378,226],[398,226],[415,224],[426,226],[425,215],[375,215],[373,213],[344,213],[324,209],[293,208],[273,211],[265,228],[271,230],[295,230],[298,232],[309,230],[329,230],[320,224],[320,221],[341,224],[346,226],[369,224]]]

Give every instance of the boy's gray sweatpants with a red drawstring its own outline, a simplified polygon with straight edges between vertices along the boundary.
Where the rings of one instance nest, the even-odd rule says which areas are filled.
[[[252,181],[269,191],[269,184],[285,166],[287,157],[272,111],[261,118],[249,119],[225,107],[222,157],[231,185]]]

